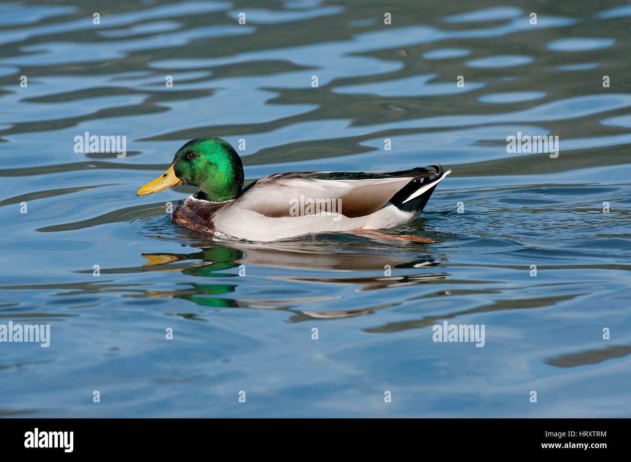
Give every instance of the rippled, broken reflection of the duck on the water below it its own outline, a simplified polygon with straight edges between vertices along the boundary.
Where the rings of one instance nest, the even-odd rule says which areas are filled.
[[[431,255],[418,253],[410,258],[410,252],[384,252],[383,246],[371,246],[364,243],[203,243],[191,244],[198,250],[191,253],[143,253],[148,260],[141,267],[142,271],[178,271],[182,274],[198,277],[239,277],[245,276],[251,267],[271,267],[306,272],[326,271],[326,275],[264,276],[272,280],[288,282],[307,282],[317,284],[345,284],[357,286],[355,291],[373,291],[401,286],[431,283],[447,277],[446,273],[421,273],[420,268],[438,266],[442,260]],[[340,248],[341,247],[341,248]],[[237,271],[227,272],[230,269]],[[410,269],[410,274],[391,274],[394,270]],[[331,272],[379,272],[378,275],[349,277],[336,276]],[[340,299],[341,296],[322,296],[287,299],[237,299],[225,297],[235,292],[237,284],[189,283],[189,289],[168,291],[146,291],[132,297],[173,297],[187,299],[202,306],[223,308],[285,309],[292,311],[290,321],[298,322],[309,319],[348,318],[372,313],[387,308],[384,304],[371,308],[345,309],[338,311],[304,311],[295,309],[296,304],[324,302]],[[222,297],[218,297],[222,296]],[[187,313],[186,316],[191,316]],[[194,319],[198,319],[195,317]]]

